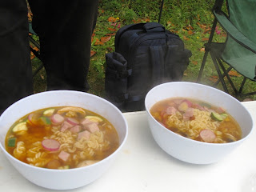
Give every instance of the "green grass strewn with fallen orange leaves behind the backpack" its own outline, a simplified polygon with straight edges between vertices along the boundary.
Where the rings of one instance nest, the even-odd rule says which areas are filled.
[[[158,22],[159,7],[161,0],[101,0],[98,7],[98,21],[94,30],[94,38],[91,44],[91,50],[96,54],[91,57],[90,71],[88,81],[90,83],[90,93],[104,97],[104,78],[105,78],[105,54],[114,51],[114,33],[118,30],[118,26],[126,26],[134,22]],[[190,65],[184,72],[182,81],[195,82],[201,66],[204,55],[203,45],[207,42],[210,35],[210,27],[214,20],[211,14],[211,8],[214,0],[166,0],[163,10],[161,23],[170,30],[180,36],[184,42],[186,49],[191,50],[192,57]],[[114,18],[110,22],[110,17]],[[226,34],[219,27],[220,34],[214,35],[214,40],[223,42]],[[110,40],[102,44],[98,44],[102,37],[111,36]],[[32,60],[33,66],[40,63],[38,59]],[[208,57],[206,68],[202,77],[202,83],[212,85],[213,76],[217,75],[214,65]],[[234,76],[235,85],[238,86],[242,82],[242,77]],[[254,82],[247,82],[244,91],[256,90]],[[218,86],[222,90],[222,86]],[[230,87],[228,87],[230,89]],[[46,90],[46,73],[41,70],[34,78],[34,91],[42,92]],[[230,91],[230,94],[234,93]],[[255,100],[255,96],[250,96]],[[244,97],[238,98],[245,99]]]

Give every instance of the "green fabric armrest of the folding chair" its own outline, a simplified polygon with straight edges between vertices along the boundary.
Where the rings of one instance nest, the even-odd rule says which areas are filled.
[[[223,27],[224,30],[230,35],[231,38],[234,38],[234,40],[238,43],[240,43],[242,46],[246,47],[246,49],[251,50],[256,54],[256,43],[250,41],[249,38],[246,38],[244,34],[242,34],[226,17],[226,14],[223,12],[216,12],[213,11],[214,16],[217,18],[220,25]]]

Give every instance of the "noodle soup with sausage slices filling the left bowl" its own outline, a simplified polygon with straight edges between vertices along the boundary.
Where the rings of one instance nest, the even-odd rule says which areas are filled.
[[[34,111],[6,134],[6,150],[14,158],[50,169],[88,166],[118,146],[118,133],[106,118],[73,106]]]

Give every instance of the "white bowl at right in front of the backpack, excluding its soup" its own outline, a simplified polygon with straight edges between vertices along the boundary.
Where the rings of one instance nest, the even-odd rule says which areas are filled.
[[[190,138],[182,137],[166,129],[166,127],[162,126],[153,118],[150,114],[150,108],[156,102],[163,99],[176,97],[194,98],[208,102],[214,106],[222,106],[241,126],[242,139],[224,144],[198,142]],[[226,154],[229,154],[238,145],[244,142],[254,128],[250,113],[242,106],[241,102],[221,90],[198,83],[168,82],[155,86],[146,94],[145,106],[150,130],[158,146],[160,146],[162,150],[165,150],[167,154],[183,162],[194,164],[218,162],[221,158],[224,158]]]

